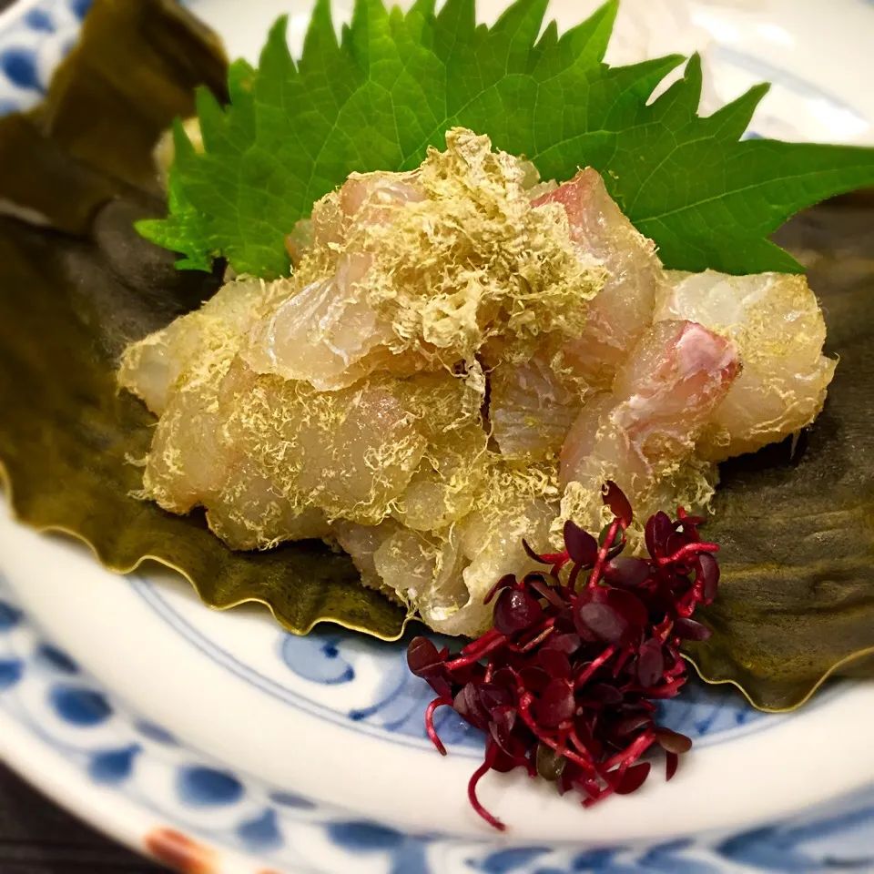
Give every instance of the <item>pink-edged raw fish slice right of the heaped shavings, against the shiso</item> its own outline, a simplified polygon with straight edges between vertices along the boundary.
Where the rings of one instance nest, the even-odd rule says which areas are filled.
[[[616,369],[653,320],[655,292],[665,284],[655,244],[625,218],[592,168],[534,200],[561,204],[571,239],[585,256],[600,259],[609,278],[588,304],[583,334],[564,346],[564,365],[589,385],[609,389]]]

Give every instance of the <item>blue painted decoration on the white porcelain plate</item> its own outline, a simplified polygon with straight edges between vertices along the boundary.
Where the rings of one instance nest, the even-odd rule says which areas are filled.
[[[0,27],[0,115],[30,107],[45,93],[91,0],[40,0],[5,15]],[[863,0],[869,2],[869,0]],[[768,71],[776,78],[780,71]],[[787,84],[787,83],[784,83]],[[803,83],[802,83],[803,84]],[[791,86],[789,82],[787,86]],[[798,85],[798,83],[796,83]],[[749,136],[756,136],[750,134]],[[185,632],[195,642],[195,635]],[[278,633],[276,656],[290,675],[319,686],[354,686],[357,649],[351,635],[295,638]],[[213,654],[219,658],[220,654]],[[228,654],[225,654],[228,655]],[[427,690],[403,665],[402,647],[382,650],[381,683],[367,706],[322,715],[351,727],[424,743]],[[249,682],[268,684],[263,676]],[[281,684],[271,694],[288,694]],[[299,696],[300,698],[300,696]],[[310,702],[311,703],[311,702]],[[300,700],[298,701],[300,706]],[[668,725],[696,743],[737,737],[769,719],[735,697],[692,686],[666,704]],[[475,756],[482,738],[444,713],[444,739]],[[165,728],[131,713],[73,659],[41,637],[0,578],[0,729],[15,727],[58,770],[72,768],[83,792],[99,788],[132,805],[171,834],[208,848],[216,874],[268,874],[265,868],[350,874],[731,874],[874,870],[874,789],[785,822],[733,834],[706,834],[648,847],[513,847],[451,835],[411,834],[366,821],[230,771],[178,742]],[[2,731],[0,731],[2,738]],[[149,835],[140,846],[153,847]]]

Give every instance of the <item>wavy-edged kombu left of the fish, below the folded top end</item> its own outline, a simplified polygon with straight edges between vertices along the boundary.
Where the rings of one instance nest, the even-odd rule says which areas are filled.
[[[131,496],[155,419],[117,391],[117,357],[217,285],[178,273],[139,238],[132,222],[142,215],[113,201],[91,239],[0,219],[0,472],[16,516],[76,534],[114,571],[166,564],[210,606],[262,602],[297,634],[331,619],[396,637],[403,611],[364,589],[345,556],[307,543],[231,552],[201,514],[174,516]]]

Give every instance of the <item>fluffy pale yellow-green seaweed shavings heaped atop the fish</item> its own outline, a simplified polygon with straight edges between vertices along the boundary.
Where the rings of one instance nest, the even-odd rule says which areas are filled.
[[[574,250],[564,209],[532,208],[532,166],[493,152],[488,137],[454,128],[446,146],[430,148],[408,176],[422,200],[386,205],[390,219],[356,222],[342,242],[317,243],[300,261],[297,287],[332,273],[343,255],[370,253],[357,293],[391,324],[391,351],[449,365],[472,362],[494,336],[520,361],[544,334],[579,336],[584,302],[603,287],[605,271]],[[342,224],[340,198],[322,198],[312,224]]]

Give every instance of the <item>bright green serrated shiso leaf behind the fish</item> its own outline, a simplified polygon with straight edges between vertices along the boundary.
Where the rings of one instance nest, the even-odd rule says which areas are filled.
[[[216,254],[239,272],[289,270],[285,235],[354,170],[416,167],[460,125],[531,158],[544,178],[591,166],[669,268],[798,271],[768,240],[790,216],[874,184],[874,149],[741,140],[767,86],[699,117],[701,65],[648,103],[683,63],[667,56],[607,66],[618,4],[559,36],[548,0],[516,0],[492,27],[474,0],[433,0],[404,14],[356,0],[338,42],[318,0],[295,64],[286,19],[257,70],[232,66],[230,104],[198,99],[205,152],[180,148],[168,219],[140,230],[203,267]],[[542,36],[541,32],[543,30]]]

